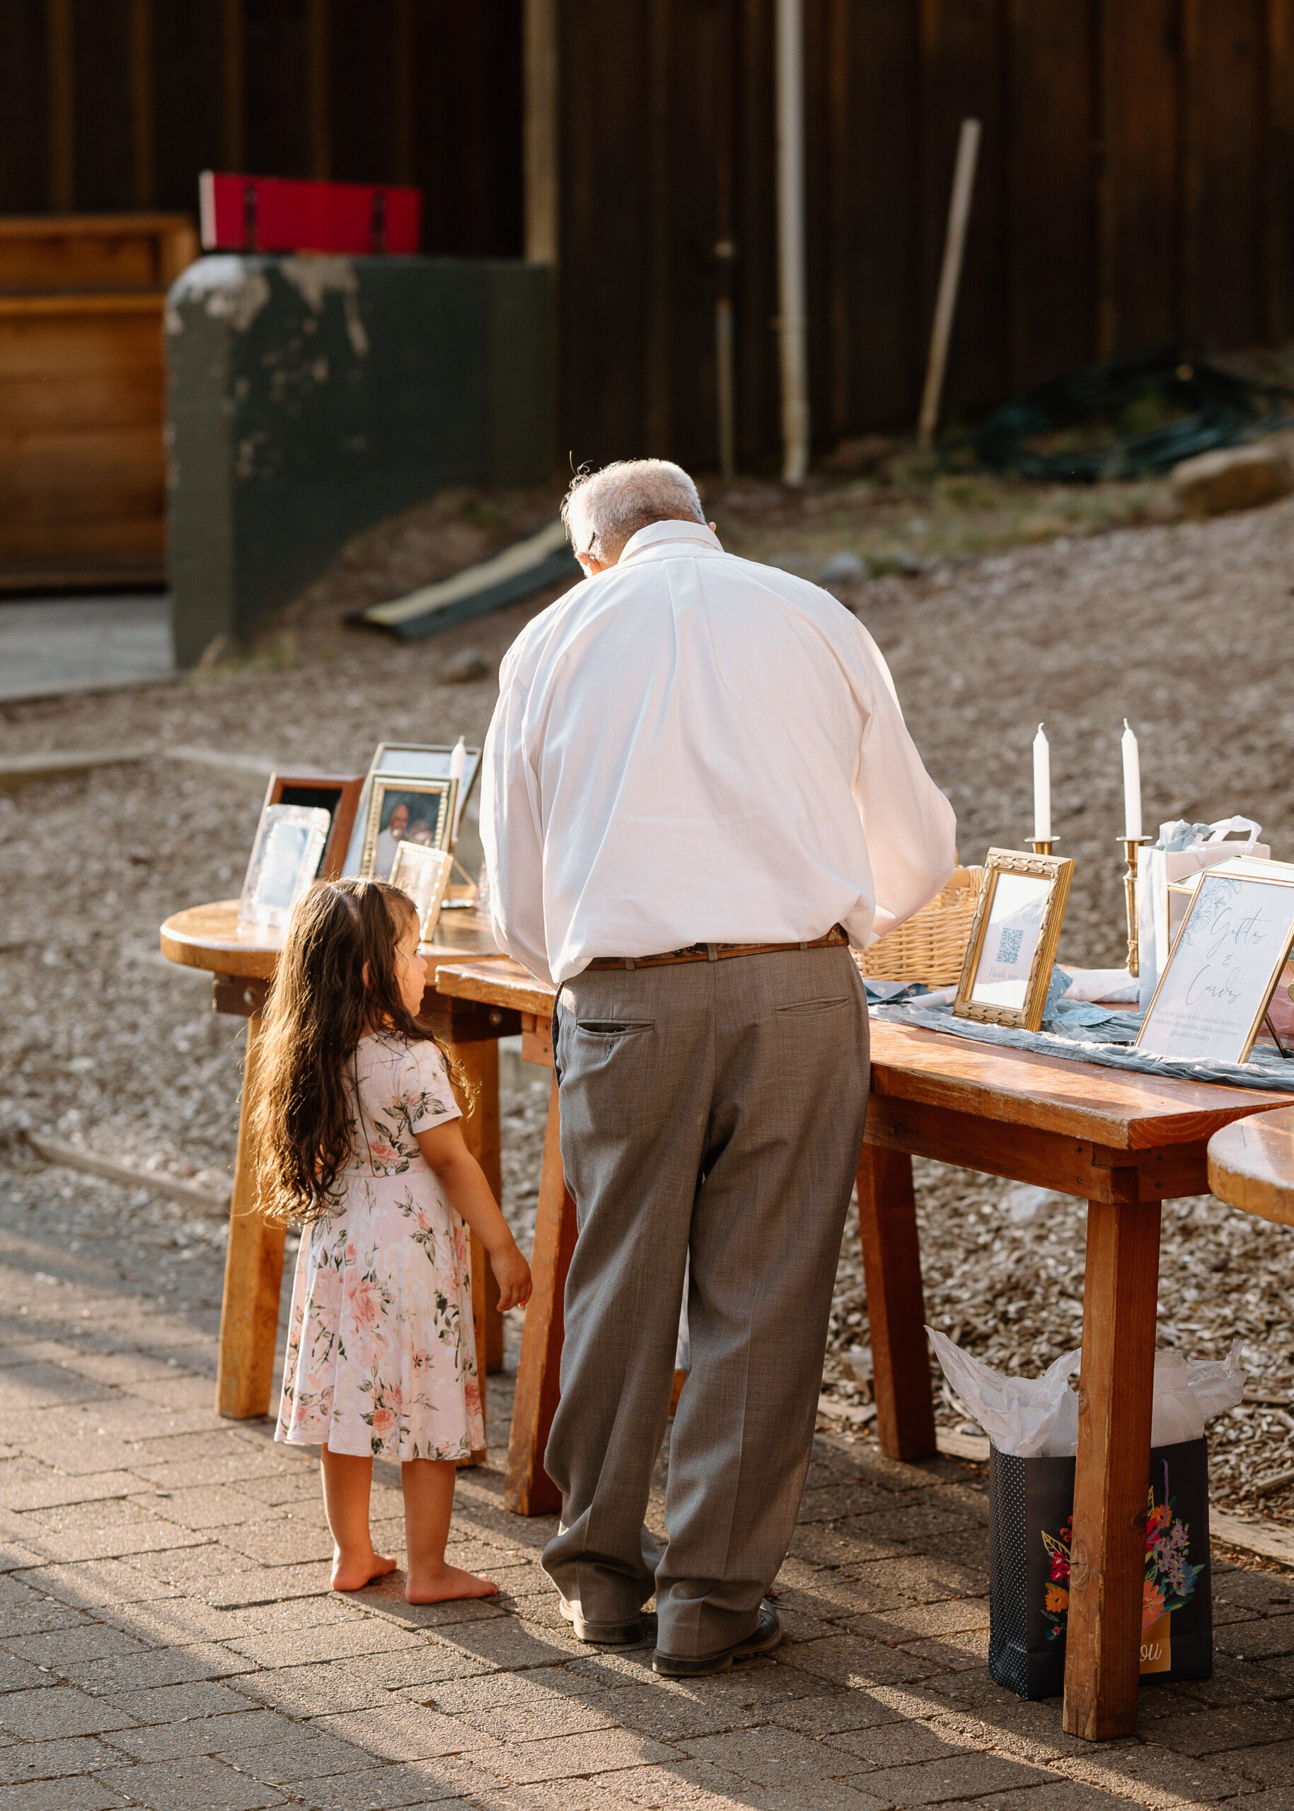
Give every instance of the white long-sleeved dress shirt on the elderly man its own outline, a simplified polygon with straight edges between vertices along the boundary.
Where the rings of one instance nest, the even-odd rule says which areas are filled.
[[[953,867],[881,650],[698,522],[640,529],[507,650],[484,752],[495,934],[558,985],[594,956],[863,949]]]

